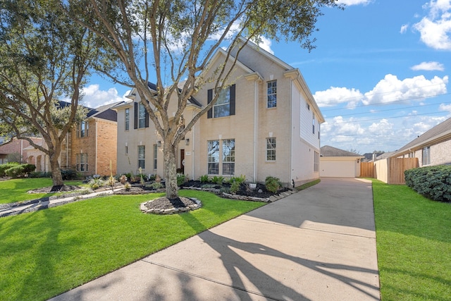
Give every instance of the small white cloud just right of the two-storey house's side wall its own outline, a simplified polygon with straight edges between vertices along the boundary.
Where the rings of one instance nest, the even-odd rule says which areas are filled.
[[[347,103],[348,107],[355,106],[360,102],[364,95],[359,90],[346,87],[330,87],[326,91],[318,91],[313,95],[318,106],[336,106],[337,104]]]

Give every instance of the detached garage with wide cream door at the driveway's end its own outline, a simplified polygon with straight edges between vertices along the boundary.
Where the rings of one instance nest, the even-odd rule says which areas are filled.
[[[321,177],[357,178],[360,162],[365,156],[325,145],[321,147],[319,159]]]

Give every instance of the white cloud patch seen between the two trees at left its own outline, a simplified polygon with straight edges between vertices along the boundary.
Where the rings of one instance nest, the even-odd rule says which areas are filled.
[[[123,96],[118,94],[118,90],[112,87],[109,90],[100,90],[99,85],[89,85],[83,90],[82,105],[89,108],[97,108],[104,104],[113,104],[114,102],[122,102],[128,99],[125,95],[128,95],[130,91],[125,92]]]

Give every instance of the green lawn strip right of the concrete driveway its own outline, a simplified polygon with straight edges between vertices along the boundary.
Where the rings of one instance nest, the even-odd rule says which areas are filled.
[[[373,180],[382,300],[451,300],[451,204]]]

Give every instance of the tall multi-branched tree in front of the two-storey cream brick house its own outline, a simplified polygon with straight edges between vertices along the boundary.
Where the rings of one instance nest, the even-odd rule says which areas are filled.
[[[178,197],[178,143],[211,109],[219,93],[185,124],[183,111],[188,99],[206,80],[216,83],[216,91],[230,85],[237,62],[237,55],[230,56],[230,51],[239,54],[249,39],[284,38],[314,48],[311,33],[323,14],[321,8],[337,4],[335,0],[68,0],[61,1],[61,6],[115,53],[101,71],[140,94],[163,140],[166,197],[173,199]],[[226,41],[234,45],[226,57],[233,63],[223,63],[215,70],[215,78],[200,78],[216,49]],[[128,75],[125,78],[124,73]],[[149,78],[156,78],[156,93],[149,90]],[[178,105],[175,116],[168,112],[171,99]]]

